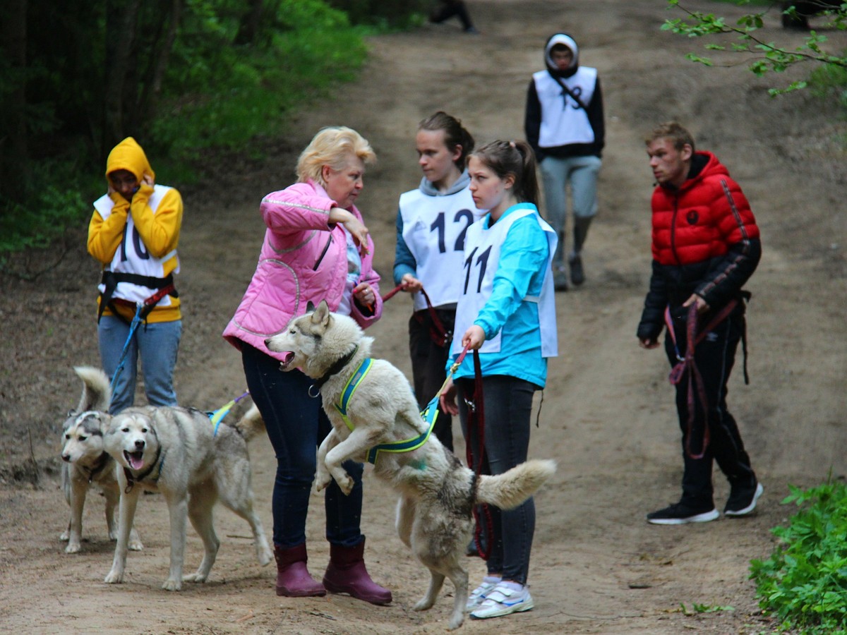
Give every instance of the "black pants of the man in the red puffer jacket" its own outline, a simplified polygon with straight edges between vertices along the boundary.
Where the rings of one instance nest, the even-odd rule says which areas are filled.
[[[679,356],[685,355],[685,321],[675,320]],[[683,433],[683,496],[680,502],[693,507],[714,505],[711,485],[712,461],[726,475],[732,487],[750,487],[756,483],[756,474],[750,467],[750,457],[741,441],[738,424],[727,409],[727,384],[735,362],[741,334],[744,333],[744,317],[728,317],[718,324],[695,349],[695,364],[703,378],[707,403],[707,422],[703,421],[700,397],[695,389],[695,419],[691,432],[691,454],[699,455],[703,447],[705,425],[709,426],[711,439],[705,453],[699,459],[689,456],[686,443],[689,441],[689,373],[677,384],[677,412],[679,427]],[[670,334],[665,339],[665,352],[671,366],[678,362]]]

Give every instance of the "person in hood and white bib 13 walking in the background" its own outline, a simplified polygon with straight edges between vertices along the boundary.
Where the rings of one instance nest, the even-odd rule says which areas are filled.
[[[567,33],[555,33],[544,47],[546,68],[534,73],[523,123],[540,163],[545,218],[559,238],[553,257],[556,290],[567,290],[565,224],[567,187],[573,212],[573,250],[567,254],[571,283],[583,284],[582,249],[597,213],[597,175],[606,142],[603,96],[597,69],[579,64],[579,47]]]

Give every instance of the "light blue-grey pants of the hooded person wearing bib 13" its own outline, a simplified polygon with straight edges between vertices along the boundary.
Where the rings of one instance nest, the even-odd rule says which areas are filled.
[[[591,218],[597,214],[597,175],[600,174],[600,157],[544,157],[541,160],[541,179],[544,182],[545,219],[559,238],[553,267],[564,265],[565,221],[567,219],[567,185],[571,186],[573,211],[573,251],[582,248],[584,234]],[[585,226],[579,229],[579,225]]]

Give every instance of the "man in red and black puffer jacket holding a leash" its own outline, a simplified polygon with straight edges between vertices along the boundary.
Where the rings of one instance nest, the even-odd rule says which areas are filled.
[[[675,367],[684,461],[682,498],[651,512],[647,521],[715,520],[712,461],[731,488],[724,515],[747,516],[762,487],[726,395],[735,351],[745,338],[749,294],[741,288],[761,257],[759,228],[727,168],[711,152],[695,152],[694,139],[680,124],[658,126],[645,143],[657,185],[651,203],[653,270],[638,338],[643,348],[656,348],[667,326],[665,351]],[[689,316],[697,321],[697,339],[686,360]]]

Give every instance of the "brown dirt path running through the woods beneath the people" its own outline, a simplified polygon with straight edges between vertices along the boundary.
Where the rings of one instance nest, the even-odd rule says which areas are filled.
[[[529,74],[539,67],[545,37],[564,25],[583,47],[582,62],[600,69],[608,138],[601,213],[584,255],[588,281],[557,297],[561,355],[551,362],[540,427],[533,431],[531,454],[559,464],[536,498],[530,572],[536,608],[500,621],[466,622],[462,631],[767,631],[748,566],[751,558],[767,557],[768,529],[790,513],[779,505],[787,483],[818,483],[830,468],[839,478],[847,472],[847,181],[844,151],[831,141],[839,133],[843,138],[844,123],[833,113],[816,113],[816,104],[801,95],[768,99],[767,84],[743,65],[702,69],[686,62],[684,53],[698,45],[659,30],[670,15],[659,0],[469,5],[483,35],[442,25],[375,38],[357,85],[343,88],[337,101],[307,104],[296,133],[269,144],[266,162],[228,165],[219,179],[185,191],[180,400],[211,408],[241,393],[239,356],[219,333],[255,265],[263,231],[257,203],[291,182],[296,151],[318,127],[350,125],[379,155],[360,207],[387,290],[397,197],[419,179],[412,146],[418,120],[443,108],[461,117],[478,141],[522,136]],[[776,16],[768,30],[766,39],[787,37]],[[749,285],[751,384],[736,372],[730,385],[730,406],[765,495],[756,517],[697,527],[644,521],[646,511],[676,500],[681,463],[667,362],[660,352],[641,351],[634,337],[649,273],[651,185],[641,137],[671,118],[688,124],[699,146],[717,152],[744,187],[765,252]],[[167,512],[156,496],[141,501],[137,526],[146,548],[130,554],[125,584],[102,583],[113,544],[98,497],[86,506],[83,551],[64,554],[57,538],[68,511],[58,488],[57,426],[78,400],[70,367],[98,362],[91,295],[97,271],[84,243],[71,233],[69,254],[34,282],[0,281],[0,630],[442,632],[451,600],[442,594],[433,610],[412,611],[428,574],[394,534],[394,495],[369,472],[368,568],[394,591],[390,607],[341,596],[276,598],[273,572],[257,566],[246,526],[225,510],[217,515],[223,544],[209,582],[167,594],[159,588],[167,571]],[[407,374],[409,311],[407,298],[396,298],[369,332],[376,355]],[[261,440],[251,451],[254,489],[269,528],[274,458]],[[458,451],[463,456],[461,444]],[[722,505],[722,478],[716,487]],[[313,496],[313,505],[307,531],[319,575],[328,548],[321,499]],[[200,550],[190,531],[186,568],[197,564]],[[484,571],[478,559],[468,559],[468,566],[472,580]],[[695,603],[734,610],[680,610]]]

